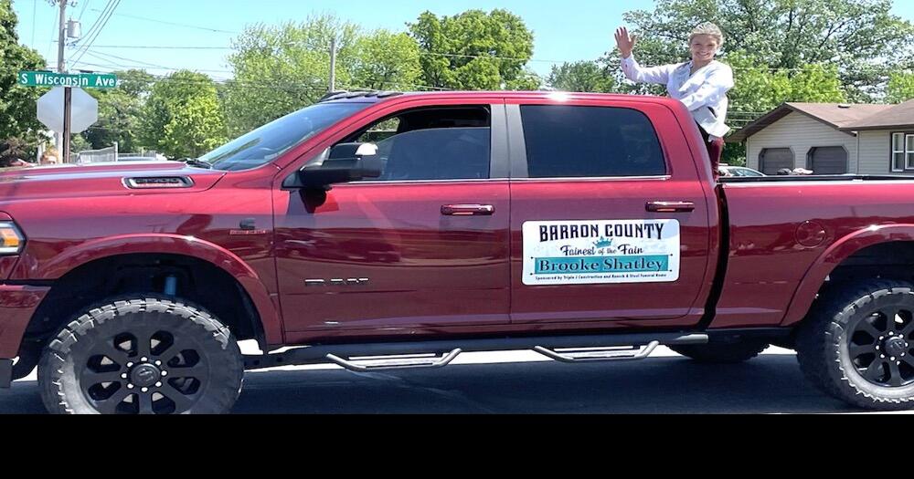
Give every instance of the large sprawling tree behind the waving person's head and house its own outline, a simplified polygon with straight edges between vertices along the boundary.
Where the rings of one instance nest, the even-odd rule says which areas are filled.
[[[657,0],[654,11],[624,19],[641,36],[636,55],[645,64],[683,61],[691,29],[713,21],[727,36],[725,53],[750,52],[768,68],[836,65],[850,99],[873,101],[888,73],[914,55],[914,26],[891,7],[891,0]],[[617,65],[617,52],[604,61]]]

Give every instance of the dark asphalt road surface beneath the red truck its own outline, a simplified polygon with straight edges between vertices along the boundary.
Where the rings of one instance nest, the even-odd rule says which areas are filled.
[[[249,372],[236,413],[842,413],[791,351],[705,366],[662,349],[636,362],[569,365],[536,353],[468,353],[442,370],[355,374],[335,366]],[[0,390],[0,413],[43,413],[34,375]]]

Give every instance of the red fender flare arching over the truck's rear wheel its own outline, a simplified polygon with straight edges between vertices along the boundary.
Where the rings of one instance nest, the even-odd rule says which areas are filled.
[[[793,295],[791,306],[787,308],[787,315],[781,322],[781,326],[792,326],[806,318],[825,279],[845,259],[856,255],[864,248],[896,241],[914,241],[914,224],[870,226],[835,241],[806,271],[800,286]]]

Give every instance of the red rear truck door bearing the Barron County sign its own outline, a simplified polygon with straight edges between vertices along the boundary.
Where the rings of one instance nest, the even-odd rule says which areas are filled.
[[[673,111],[520,102],[507,116],[512,322],[696,323],[716,204]]]

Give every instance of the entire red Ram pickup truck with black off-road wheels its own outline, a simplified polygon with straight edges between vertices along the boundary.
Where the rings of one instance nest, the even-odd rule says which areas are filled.
[[[228,411],[244,370],[285,365],[659,345],[776,344],[851,404],[914,403],[911,181],[717,182],[671,99],[341,93],[197,160],[0,173],[0,239],[0,386],[37,366],[53,412]]]

